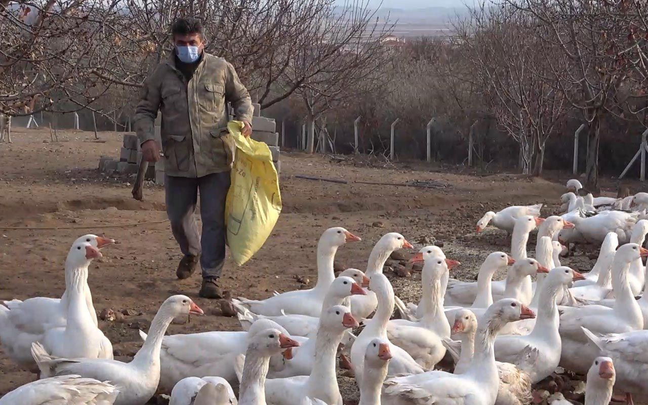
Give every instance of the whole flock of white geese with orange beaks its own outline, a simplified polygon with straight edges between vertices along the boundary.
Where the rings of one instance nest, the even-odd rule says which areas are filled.
[[[474,283],[451,279],[460,263],[424,246],[411,259],[422,263],[421,300],[404,303],[382,273],[393,251],[413,248],[399,233],[378,240],[365,272],[336,277],[336,251],[360,238],[332,227],[319,238],[314,288],[232,299],[240,331],[165,336],[172,319],[203,314],[173,295],[129,363],[113,359],[87,284],[92,260],[114,241],[84,235],[65,260],[60,299],[0,305],[4,353],[39,378],[0,405],[144,405],[158,390],[170,405],[342,405],[338,358],[360,405],[529,404],[534,384],[559,366],[586,375],[585,405],[607,405],[613,391],[632,404],[632,395],[648,397],[648,194],[593,198],[579,196],[575,180],[567,186],[562,215],[540,218],[538,204],[479,220],[478,233],[507,231],[511,251],[485,257]],[[590,272],[561,265],[578,243],[601,247]],[[498,272],[505,279],[493,281]],[[435,369],[444,358],[453,373]]]

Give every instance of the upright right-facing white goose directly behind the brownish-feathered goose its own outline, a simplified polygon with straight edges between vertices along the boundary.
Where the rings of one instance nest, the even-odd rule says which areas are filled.
[[[542,283],[538,318],[535,323],[531,319],[524,321],[529,334],[500,335],[495,340],[495,358],[500,362],[515,364],[523,371],[529,373],[533,384],[546,376],[551,375],[559,364],[561,358],[561,335],[558,332],[558,306],[556,295],[563,286],[579,279],[580,273],[568,267],[557,267],[549,272]],[[520,325],[521,328],[522,325]],[[524,358],[526,348],[537,352],[535,359]]]

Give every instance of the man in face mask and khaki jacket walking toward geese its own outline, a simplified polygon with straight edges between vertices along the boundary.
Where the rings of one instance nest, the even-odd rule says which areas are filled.
[[[135,111],[135,130],[144,159],[159,160],[154,137],[157,111],[162,113],[165,191],[171,230],[184,257],[176,275],[186,279],[198,262],[200,296],[220,298],[218,278],[225,259],[225,199],[233,146],[227,141],[227,102],[243,134],[252,132],[252,103],[234,67],[204,51],[202,24],[177,19],[171,26],[174,51],[146,78]],[[202,240],[193,214],[200,194]]]

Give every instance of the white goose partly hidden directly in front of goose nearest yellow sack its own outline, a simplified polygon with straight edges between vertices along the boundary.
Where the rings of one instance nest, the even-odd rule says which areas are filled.
[[[360,283],[364,285],[358,284],[356,279],[344,274],[353,274],[355,277],[359,276],[358,278],[360,278]],[[349,296],[354,294],[367,295],[367,292],[362,288],[363,286],[369,286],[369,279],[364,275],[364,273],[356,269],[345,270],[330,284],[329,291],[327,291],[327,294],[324,297],[320,311],[323,308],[330,308],[333,305],[346,305],[349,307]],[[252,314],[247,308],[237,305],[237,303],[234,303],[234,305],[238,311],[238,321],[240,321],[244,330],[249,329],[249,326],[257,319],[271,319],[286,329],[291,336],[314,337],[318,330],[319,316],[299,314],[263,316]],[[302,349],[300,348],[299,350],[301,351]],[[275,376],[271,375],[271,378],[275,378]]]

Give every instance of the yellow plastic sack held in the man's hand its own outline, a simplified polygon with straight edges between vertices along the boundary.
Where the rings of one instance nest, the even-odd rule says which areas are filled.
[[[265,143],[244,137],[242,128],[242,122],[230,121],[226,135],[235,146],[232,183],[225,204],[227,244],[238,266],[263,246],[281,213],[279,179],[270,149]]]

